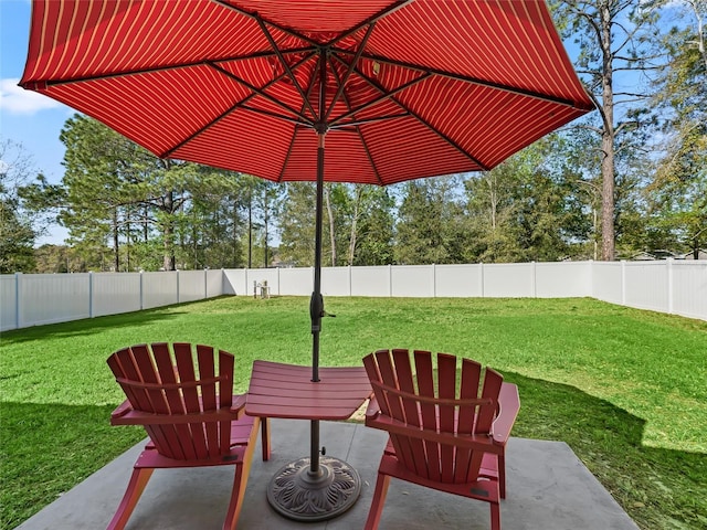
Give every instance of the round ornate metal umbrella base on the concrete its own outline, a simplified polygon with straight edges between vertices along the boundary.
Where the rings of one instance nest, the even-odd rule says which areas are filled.
[[[361,494],[361,478],[346,462],[324,456],[313,475],[308,457],[283,466],[267,486],[267,501],[295,521],[324,521],[351,508]]]

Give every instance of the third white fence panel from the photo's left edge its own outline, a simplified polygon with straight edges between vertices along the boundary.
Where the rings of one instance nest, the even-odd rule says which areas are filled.
[[[139,311],[140,273],[93,273],[91,316]]]

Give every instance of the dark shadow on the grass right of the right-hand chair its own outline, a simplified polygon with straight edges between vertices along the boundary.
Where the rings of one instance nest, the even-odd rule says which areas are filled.
[[[707,529],[707,455],[644,446],[644,420],[574,386],[504,377],[520,394],[514,436],[566,442],[641,528]]]

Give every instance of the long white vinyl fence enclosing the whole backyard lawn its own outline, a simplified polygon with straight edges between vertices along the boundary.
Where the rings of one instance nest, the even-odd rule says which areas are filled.
[[[0,276],[0,330],[212,298],[309,296],[312,268]],[[326,267],[325,296],[600,300],[707,320],[707,261]]]

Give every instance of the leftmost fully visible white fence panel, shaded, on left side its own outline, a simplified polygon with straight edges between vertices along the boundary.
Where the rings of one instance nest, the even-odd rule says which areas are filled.
[[[20,327],[66,322],[91,316],[91,275],[23,274],[19,283]]]

